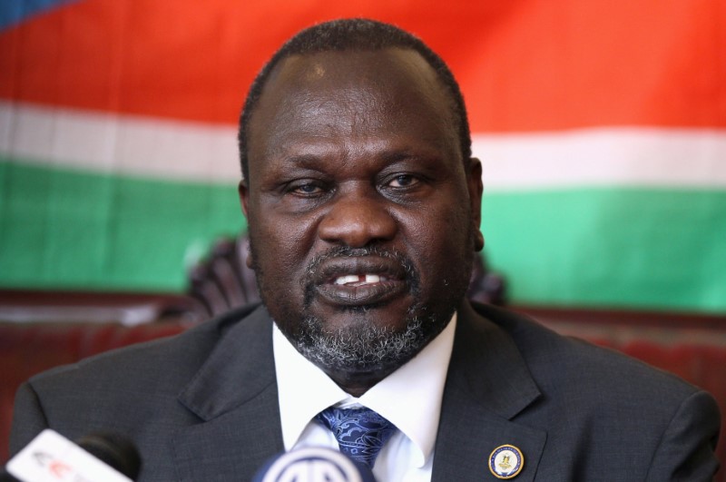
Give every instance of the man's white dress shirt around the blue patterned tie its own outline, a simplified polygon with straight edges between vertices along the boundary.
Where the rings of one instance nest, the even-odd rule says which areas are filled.
[[[441,398],[451,359],[456,314],[446,329],[414,359],[355,398],[299,354],[273,328],[272,345],[278,379],[280,422],[285,450],[304,447],[338,449],[332,432],[313,418],[330,406],[364,406],[396,425],[381,450],[373,474],[385,482],[431,480]]]

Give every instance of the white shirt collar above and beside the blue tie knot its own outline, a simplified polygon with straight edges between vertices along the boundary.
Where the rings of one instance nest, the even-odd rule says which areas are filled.
[[[348,406],[358,403],[377,411],[396,425],[417,448],[415,465],[422,467],[436,442],[455,330],[456,313],[446,329],[416,357],[382,379],[362,397],[354,398],[300,355],[275,325],[272,344],[285,450],[297,443],[310,420],[321,410],[337,404]]]

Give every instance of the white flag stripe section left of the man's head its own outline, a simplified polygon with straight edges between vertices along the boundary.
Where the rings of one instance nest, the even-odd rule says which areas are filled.
[[[237,182],[232,126],[0,103],[0,153],[149,178]]]

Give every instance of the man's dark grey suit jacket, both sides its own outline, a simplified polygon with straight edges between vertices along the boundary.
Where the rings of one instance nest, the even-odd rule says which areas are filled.
[[[524,453],[520,482],[711,479],[710,395],[514,313],[476,310],[458,311],[435,481],[495,480],[488,457],[504,444]],[[264,308],[237,310],[36,376],[18,392],[11,449],[46,427],[72,439],[111,429],[137,444],[142,480],[248,480],[283,449],[270,323]]]

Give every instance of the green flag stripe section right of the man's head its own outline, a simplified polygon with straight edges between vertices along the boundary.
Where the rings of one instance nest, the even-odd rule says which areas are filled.
[[[726,311],[726,192],[496,192],[487,260],[521,303]]]

